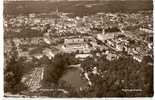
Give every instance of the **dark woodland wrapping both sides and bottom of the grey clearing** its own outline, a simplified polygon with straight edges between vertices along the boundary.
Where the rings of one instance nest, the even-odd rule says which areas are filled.
[[[47,67],[44,83],[50,83],[48,87],[63,88],[69,94],[61,94],[59,97],[125,97],[125,96],[152,96],[153,95],[153,62],[149,56],[144,57],[141,63],[131,56],[120,57],[118,60],[109,61],[105,56],[87,58],[81,63],[81,67],[88,73],[92,86],[82,91],[77,91],[66,82],[58,81],[67,70],[67,66],[73,64],[73,56],[58,54]],[[93,67],[97,67],[99,74],[92,74]],[[51,84],[52,83],[52,84]],[[123,89],[137,89],[140,91],[123,91]],[[59,93],[58,91],[55,91]],[[48,96],[56,96],[50,94]]]

